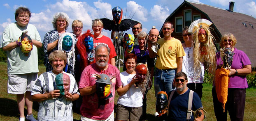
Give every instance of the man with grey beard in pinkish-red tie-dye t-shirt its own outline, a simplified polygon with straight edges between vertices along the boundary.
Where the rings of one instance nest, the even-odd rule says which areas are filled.
[[[120,72],[111,64],[109,61],[110,49],[105,44],[100,44],[95,48],[95,61],[96,63],[91,64],[84,68],[81,74],[79,82],[79,90],[81,96],[83,96],[83,102],[80,108],[81,121],[114,121],[114,95],[115,90],[120,93],[122,88]],[[99,103],[99,97],[96,91],[101,91],[96,85],[96,76],[106,74],[111,80],[111,84],[105,86],[108,89],[103,92],[109,91],[112,96],[106,98],[104,103]],[[102,80],[107,80],[107,77]],[[100,97],[101,98],[101,97]]]

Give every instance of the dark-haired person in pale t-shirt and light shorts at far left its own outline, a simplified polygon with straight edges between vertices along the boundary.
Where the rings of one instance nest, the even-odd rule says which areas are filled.
[[[0,40],[0,48],[7,53],[7,92],[8,94],[16,94],[20,114],[19,121],[25,121],[25,103],[28,109],[27,120],[37,121],[33,117],[33,101],[31,100],[30,93],[37,79],[37,73],[39,72],[37,48],[42,47],[42,42],[37,28],[29,24],[30,17],[31,12],[28,8],[19,7],[16,9],[16,22],[7,25]],[[21,37],[21,35],[26,36]],[[28,41],[30,44],[26,44]],[[32,49],[31,45],[33,47]],[[24,54],[22,50],[24,46],[26,48],[30,46],[31,51]],[[10,108],[14,107],[13,105]]]

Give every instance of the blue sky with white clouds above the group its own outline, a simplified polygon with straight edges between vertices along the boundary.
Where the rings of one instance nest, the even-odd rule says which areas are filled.
[[[91,29],[91,21],[95,18],[112,19],[112,8],[119,6],[123,9],[123,18],[127,9],[126,18],[133,15],[133,20],[142,23],[142,31],[149,32],[152,26],[159,30],[165,19],[179,6],[184,0],[1,0],[0,11],[0,37],[5,27],[15,22],[14,13],[18,7],[28,7],[32,12],[30,24],[37,27],[43,40],[47,31],[53,30],[51,21],[56,12],[65,12],[70,17],[70,25],[67,32],[72,32],[71,23],[75,19],[83,21],[83,31]],[[231,0],[189,0],[200,2],[206,5],[228,9]],[[255,0],[232,0],[235,2],[234,11],[247,14],[256,18]],[[110,32],[103,30],[106,36]],[[131,30],[127,31],[132,34]]]

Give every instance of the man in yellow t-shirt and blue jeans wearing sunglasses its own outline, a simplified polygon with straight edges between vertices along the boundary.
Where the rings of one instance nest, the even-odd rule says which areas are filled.
[[[173,30],[172,23],[165,22],[163,24],[164,38],[159,39],[157,42],[160,44],[160,48],[156,53],[155,94],[159,91],[166,91],[169,94],[172,90],[175,74],[182,70],[182,57],[185,52],[182,43],[171,36]]]

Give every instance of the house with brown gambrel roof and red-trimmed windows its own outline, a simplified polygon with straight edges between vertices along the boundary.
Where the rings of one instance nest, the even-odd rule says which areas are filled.
[[[235,48],[244,51],[256,67],[256,18],[233,11],[235,2],[230,2],[229,9],[221,9],[197,2],[184,1],[165,21],[173,23],[175,37],[183,42],[182,29],[195,20],[204,18],[213,24],[212,35],[216,39],[217,50],[223,34],[232,33],[237,39]],[[160,36],[163,37],[162,29]]]

